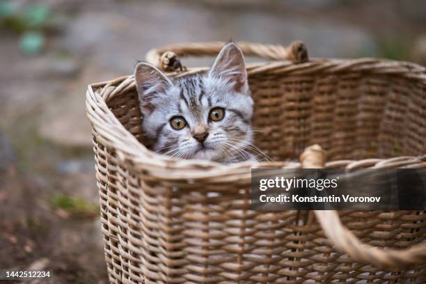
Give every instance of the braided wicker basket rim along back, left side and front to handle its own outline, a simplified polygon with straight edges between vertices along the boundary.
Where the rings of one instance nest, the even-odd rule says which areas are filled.
[[[168,72],[168,76],[180,76],[201,72],[207,68],[189,68],[186,72]],[[407,61],[393,61],[383,58],[312,58],[306,63],[294,64],[290,61],[270,61],[251,63],[247,65],[248,76],[256,74],[313,74],[321,73],[324,76],[342,73],[358,73],[389,75],[412,79],[423,84],[426,88],[426,68]],[[108,90],[113,87],[114,90]],[[157,178],[166,180],[224,178],[240,180],[249,178],[251,168],[283,167],[287,161],[255,162],[244,161],[236,164],[219,164],[215,161],[203,159],[177,159],[153,152],[140,143],[118,121],[107,107],[107,100],[119,96],[128,90],[134,90],[134,76],[127,75],[110,81],[89,84],[86,93],[86,110],[90,123],[96,131],[108,134],[109,143],[117,151],[118,158],[134,171],[155,172]],[[334,161],[336,162],[336,161]],[[157,171],[152,171],[152,170]]]

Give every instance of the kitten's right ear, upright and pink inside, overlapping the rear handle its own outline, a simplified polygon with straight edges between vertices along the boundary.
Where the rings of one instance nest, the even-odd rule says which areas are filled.
[[[214,61],[209,77],[216,77],[226,80],[227,84],[232,84],[234,90],[239,93],[246,93],[248,90],[246,63],[241,49],[230,42],[225,45]]]

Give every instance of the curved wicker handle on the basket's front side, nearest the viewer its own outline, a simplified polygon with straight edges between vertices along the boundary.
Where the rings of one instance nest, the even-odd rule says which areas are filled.
[[[324,150],[319,145],[306,148],[300,159],[302,168],[324,168],[326,160]],[[426,243],[401,250],[384,250],[370,244],[363,244],[354,233],[343,226],[335,210],[315,210],[314,212],[331,243],[338,251],[347,253],[357,262],[382,267],[409,267],[426,262]]]

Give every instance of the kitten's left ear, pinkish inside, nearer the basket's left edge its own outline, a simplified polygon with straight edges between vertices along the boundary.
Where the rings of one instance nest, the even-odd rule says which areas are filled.
[[[141,111],[151,113],[154,109],[152,100],[164,95],[173,84],[158,68],[149,63],[139,63],[134,70],[136,90],[139,94]]]

